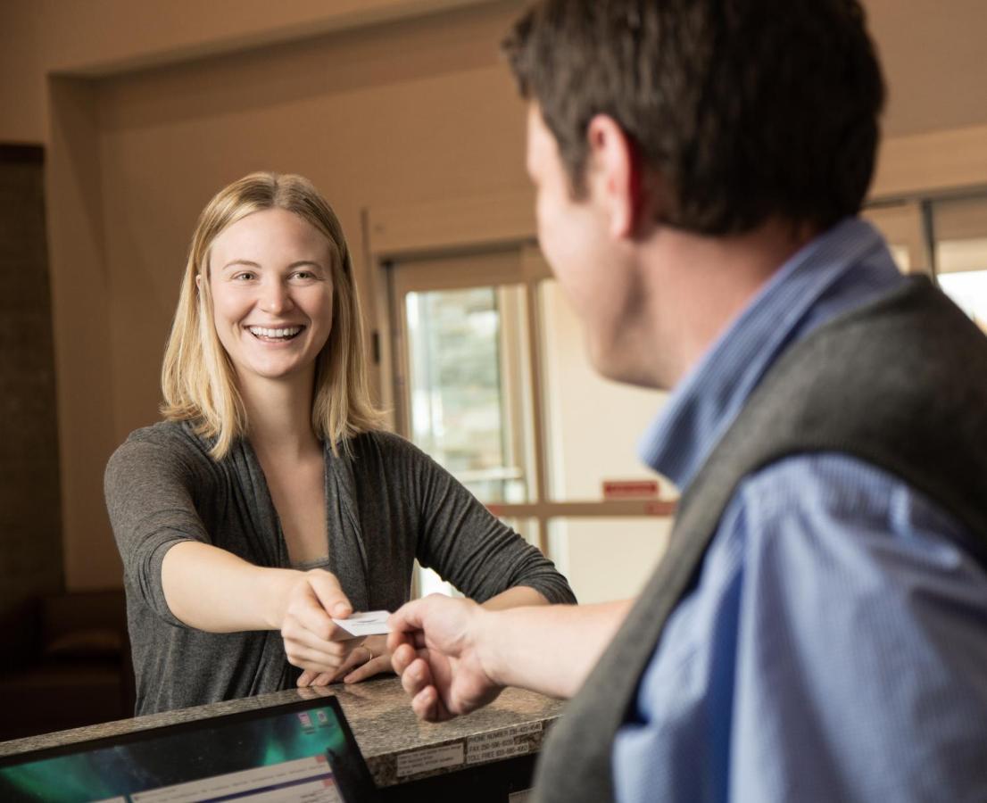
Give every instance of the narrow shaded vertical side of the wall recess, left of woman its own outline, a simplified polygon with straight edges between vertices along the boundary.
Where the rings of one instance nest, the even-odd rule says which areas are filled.
[[[104,239],[97,87],[82,79],[52,79],[50,98],[46,205],[65,581],[69,589],[107,588],[120,584],[120,571],[103,503],[103,467],[115,438],[113,288]],[[142,332],[128,336],[140,339]]]

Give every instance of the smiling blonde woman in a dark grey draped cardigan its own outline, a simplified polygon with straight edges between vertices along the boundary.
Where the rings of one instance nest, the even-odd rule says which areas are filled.
[[[253,174],[206,206],[162,388],[166,420],[106,474],[137,713],[390,670],[383,636],[343,640],[332,617],[400,607],[416,557],[491,607],[573,601],[537,549],[378,428],[349,251],[306,180]]]

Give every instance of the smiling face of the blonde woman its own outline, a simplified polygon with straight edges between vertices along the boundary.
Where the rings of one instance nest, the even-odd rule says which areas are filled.
[[[311,376],[333,328],[329,240],[284,209],[241,218],[212,243],[213,322],[241,385]]]

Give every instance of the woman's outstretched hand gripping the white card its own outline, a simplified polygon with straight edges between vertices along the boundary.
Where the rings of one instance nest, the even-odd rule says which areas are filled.
[[[366,661],[362,639],[352,638],[333,621],[333,617],[344,619],[352,612],[336,575],[324,569],[299,572],[288,588],[281,616],[288,663],[305,670],[303,677],[313,673],[336,678],[361,663],[361,652]]]

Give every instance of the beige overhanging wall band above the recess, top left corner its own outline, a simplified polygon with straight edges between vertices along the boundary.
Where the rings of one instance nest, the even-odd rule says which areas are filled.
[[[49,75],[118,74],[485,2],[4,0],[0,141],[47,141]]]

